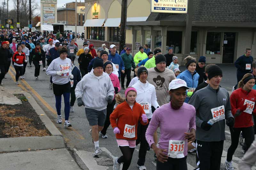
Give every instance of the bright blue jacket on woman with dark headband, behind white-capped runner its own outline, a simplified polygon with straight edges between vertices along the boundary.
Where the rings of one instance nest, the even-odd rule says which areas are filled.
[[[180,73],[177,78],[184,80],[187,83],[187,87],[196,88],[198,85],[199,74],[195,71],[192,76],[192,74],[188,70],[185,70]],[[188,103],[188,100],[189,97],[186,97],[185,103]]]

